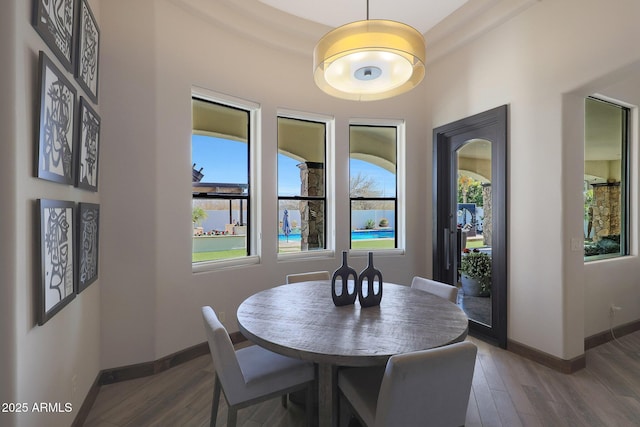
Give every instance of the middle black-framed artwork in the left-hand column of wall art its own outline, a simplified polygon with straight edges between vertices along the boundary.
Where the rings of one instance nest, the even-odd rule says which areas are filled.
[[[73,185],[76,89],[40,51],[40,117],[36,176]]]

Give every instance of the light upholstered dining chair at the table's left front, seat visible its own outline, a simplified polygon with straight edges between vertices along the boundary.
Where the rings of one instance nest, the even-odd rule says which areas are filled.
[[[282,356],[257,345],[236,351],[211,307],[202,307],[202,317],[214,369],[212,427],[216,425],[221,391],[229,406],[228,427],[235,427],[238,409],[296,390],[306,388],[306,407],[312,407],[315,376],[312,363]],[[307,410],[308,426],[312,416],[312,411]]]

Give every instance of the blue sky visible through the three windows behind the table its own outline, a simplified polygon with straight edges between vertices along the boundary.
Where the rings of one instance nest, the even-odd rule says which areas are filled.
[[[193,135],[191,143],[192,163],[196,163],[196,169],[203,168],[202,182],[248,184],[247,144],[201,135]],[[297,160],[278,155],[279,195],[299,194],[300,170],[297,164]],[[352,175],[360,172],[380,182],[380,190],[385,190],[386,195],[395,194],[395,177],[387,170],[355,159],[350,160],[349,167]]]

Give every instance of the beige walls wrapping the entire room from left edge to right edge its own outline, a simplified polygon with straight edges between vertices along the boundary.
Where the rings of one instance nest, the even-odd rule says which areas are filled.
[[[301,31],[291,48],[282,49],[237,33],[234,27],[249,28],[251,21],[226,2],[188,1],[198,2],[213,5],[211,17],[191,14],[179,0],[91,1],[102,31],[98,194],[32,177],[36,64],[43,42],[29,23],[30,2],[11,0],[5,10],[15,14],[0,17],[0,36],[8,36],[0,41],[0,54],[14,59],[12,69],[2,70],[8,79],[0,79],[0,89],[9,93],[0,104],[0,137],[8,141],[0,144],[0,196],[8,202],[0,224],[0,266],[8,283],[1,291],[0,333],[10,343],[0,349],[0,361],[12,373],[0,376],[3,401],[70,401],[77,409],[100,369],[155,360],[204,341],[201,305],[225,311],[227,327],[237,330],[233,313],[248,295],[282,283],[288,273],[339,264],[337,256],[277,260],[271,242],[278,221],[279,108],[335,116],[340,200],[347,198],[349,119],[406,119],[411,238],[406,255],[380,256],[376,263],[385,279],[408,283],[414,274],[431,274],[432,129],[509,104],[509,339],[570,359],[582,354],[585,336],[608,328],[610,302],[623,307],[618,322],[640,318],[637,188],[633,256],[585,266],[581,251],[571,251],[571,240],[582,236],[582,97],[602,91],[640,102],[640,85],[632,78],[640,75],[637,1],[536,2],[430,63],[417,90],[374,103],[331,99],[313,85],[311,51],[299,47],[312,46],[322,28],[298,21],[282,25],[283,31]],[[261,105],[258,265],[191,272],[192,85]],[[632,164],[637,135],[636,129]],[[637,172],[631,181],[638,182]],[[557,190],[536,192],[538,186]],[[102,217],[99,281],[37,327],[33,206],[40,197],[99,202]],[[541,212],[541,205],[547,209]],[[337,253],[348,247],[348,215],[348,205],[340,203]],[[362,268],[365,259],[354,264]],[[21,415],[19,425],[64,426],[73,416]],[[0,424],[12,420],[0,414]]]

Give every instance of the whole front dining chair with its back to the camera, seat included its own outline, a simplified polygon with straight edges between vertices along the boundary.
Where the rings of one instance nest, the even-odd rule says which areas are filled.
[[[347,408],[367,427],[464,425],[477,351],[463,341],[391,356],[384,369],[340,370],[341,425]]]

